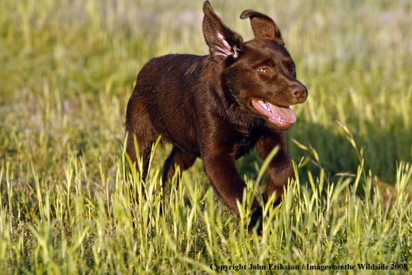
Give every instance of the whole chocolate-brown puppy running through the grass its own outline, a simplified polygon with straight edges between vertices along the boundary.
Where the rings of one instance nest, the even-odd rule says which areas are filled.
[[[276,192],[282,199],[293,167],[282,131],[296,120],[289,106],[302,103],[307,89],[296,80],[295,64],[279,28],[266,15],[245,10],[255,39],[243,42],[212,10],[203,7],[203,34],[210,54],[172,54],[153,58],[137,76],[128,102],[127,153],[136,163],[134,136],[147,174],[153,142],[171,142],[173,149],[164,162],[163,183],[202,158],[205,173],[226,206],[239,216],[237,200],[246,188],[237,172],[236,160],[256,147],[266,158],[278,144],[271,161],[264,200]],[[249,229],[261,217],[255,199]],[[259,231],[261,227],[259,228]]]

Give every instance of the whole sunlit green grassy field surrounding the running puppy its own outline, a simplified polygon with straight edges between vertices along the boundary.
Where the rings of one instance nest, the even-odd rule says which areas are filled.
[[[211,4],[245,40],[243,10],[273,17],[309,89],[286,132],[297,177],[280,207],[264,209],[264,234],[243,230],[248,201],[261,201],[256,152],[239,160],[249,194],[240,220],[199,160],[173,178],[160,214],[171,148],[153,151],[146,183],[123,153],[126,103],[144,63],[208,53],[202,1],[3,0],[1,274],[409,273],[412,2]],[[141,185],[146,195],[133,203],[129,190]]]

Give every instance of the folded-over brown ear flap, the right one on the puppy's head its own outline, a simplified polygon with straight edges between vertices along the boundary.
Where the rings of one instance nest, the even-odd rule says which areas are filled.
[[[283,44],[282,35],[276,23],[267,15],[255,12],[255,10],[244,10],[241,19],[250,17],[255,38],[265,38],[271,40],[280,40]]]

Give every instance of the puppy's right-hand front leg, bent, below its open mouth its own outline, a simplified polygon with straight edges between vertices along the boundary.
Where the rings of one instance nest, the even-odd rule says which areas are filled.
[[[264,192],[266,202],[273,192],[276,192],[275,205],[282,200],[283,188],[288,184],[288,178],[295,178],[293,165],[289,156],[288,144],[283,132],[262,135],[256,144],[257,152],[261,158],[266,159],[272,149],[279,145],[280,149],[269,164],[268,182]]]

